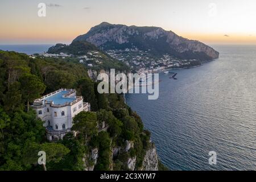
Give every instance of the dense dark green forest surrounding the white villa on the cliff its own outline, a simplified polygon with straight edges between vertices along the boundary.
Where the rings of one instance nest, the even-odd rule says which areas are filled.
[[[135,169],[142,166],[150,132],[122,95],[97,92],[98,83],[90,80],[84,65],[0,51],[0,74],[0,170],[84,170],[84,156],[95,147],[99,153],[94,170],[127,169],[127,158],[135,155]],[[67,134],[63,140],[48,142],[43,121],[30,105],[60,88],[76,89],[90,102],[92,112],[82,111],[73,118],[76,137]],[[108,131],[98,132],[102,122],[109,125]],[[126,140],[134,147],[112,159],[111,148],[124,146]],[[44,168],[37,164],[41,150],[47,154]]]

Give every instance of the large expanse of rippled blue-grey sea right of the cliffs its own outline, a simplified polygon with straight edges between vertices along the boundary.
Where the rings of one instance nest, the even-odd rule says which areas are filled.
[[[127,94],[171,170],[256,170],[256,46],[213,46],[216,61],[160,74],[158,100]],[[208,163],[217,152],[217,165]]]

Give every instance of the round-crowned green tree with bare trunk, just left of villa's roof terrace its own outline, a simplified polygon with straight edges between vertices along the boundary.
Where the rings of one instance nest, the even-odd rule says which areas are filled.
[[[27,111],[29,111],[30,102],[40,97],[40,94],[46,89],[46,85],[38,77],[29,73],[20,78],[20,84],[22,85],[20,89],[22,98],[27,102]]]

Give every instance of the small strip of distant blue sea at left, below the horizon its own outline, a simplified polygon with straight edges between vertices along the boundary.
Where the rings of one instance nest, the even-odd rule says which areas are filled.
[[[3,51],[15,51],[20,53],[26,53],[27,55],[32,55],[33,53],[43,53],[48,51],[48,48],[53,46],[53,44],[40,44],[40,45],[1,45],[0,50]]]

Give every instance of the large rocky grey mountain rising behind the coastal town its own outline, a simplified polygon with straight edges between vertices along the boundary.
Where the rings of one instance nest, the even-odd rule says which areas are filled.
[[[156,56],[169,54],[179,59],[201,61],[217,59],[219,53],[197,40],[183,38],[160,27],[137,27],[103,22],[78,36],[73,43],[86,40],[102,49],[137,47]]]

